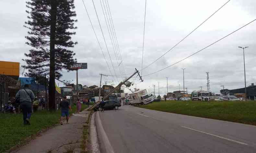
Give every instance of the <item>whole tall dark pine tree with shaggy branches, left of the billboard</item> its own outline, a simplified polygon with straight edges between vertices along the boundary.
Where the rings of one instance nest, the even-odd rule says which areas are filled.
[[[27,76],[49,75],[49,108],[55,109],[55,78],[62,76],[62,70],[70,70],[76,62],[75,53],[68,48],[77,42],[71,40],[75,35],[74,0],[30,0],[27,3],[28,21],[24,25],[29,29],[29,41],[32,46],[29,54],[25,53],[28,69]]]

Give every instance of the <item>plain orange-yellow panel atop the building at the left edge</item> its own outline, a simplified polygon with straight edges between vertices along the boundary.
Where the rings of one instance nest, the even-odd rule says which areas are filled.
[[[0,61],[0,74],[19,77],[19,63]]]

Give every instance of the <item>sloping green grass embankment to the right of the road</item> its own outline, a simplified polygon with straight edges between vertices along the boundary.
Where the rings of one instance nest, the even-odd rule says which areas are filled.
[[[138,107],[256,125],[256,101],[161,101]]]

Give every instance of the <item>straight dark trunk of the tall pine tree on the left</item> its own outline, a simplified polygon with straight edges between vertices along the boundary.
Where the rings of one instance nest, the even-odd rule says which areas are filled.
[[[55,110],[55,30],[57,5],[51,1],[49,109]]]

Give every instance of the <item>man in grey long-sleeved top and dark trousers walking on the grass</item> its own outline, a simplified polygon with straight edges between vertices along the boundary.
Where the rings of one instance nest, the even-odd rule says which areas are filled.
[[[20,89],[15,96],[17,99],[19,99],[20,102],[24,125],[30,125],[29,119],[32,113],[32,101],[35,98],[34,93],[29,90],[28,87],[28,84],[24,85],[24,89]]]

